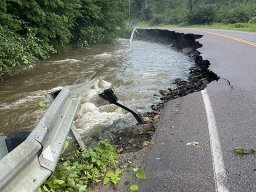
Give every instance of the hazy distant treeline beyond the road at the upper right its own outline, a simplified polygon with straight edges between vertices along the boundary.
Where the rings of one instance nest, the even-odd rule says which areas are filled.
[[[256,23],[255,0],[131,0],[130,10],[151,24]]]

